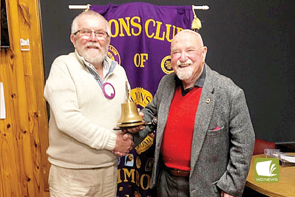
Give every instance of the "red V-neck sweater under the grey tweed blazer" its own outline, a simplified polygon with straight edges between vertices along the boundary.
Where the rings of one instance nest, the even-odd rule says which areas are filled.
[[[191,143],[201,92],[201,87],[194,87],[182,96],[181,86],[175,90],[160,150],[167,167],[191,170]]]

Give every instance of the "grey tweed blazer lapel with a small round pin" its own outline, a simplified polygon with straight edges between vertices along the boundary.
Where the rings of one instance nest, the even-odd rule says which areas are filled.
[[[206,76],[204,87],[202,89],[198,110],[196,113],[195,125],[194,125],[194,134],[193,141],[191,145],[191,173],[194,171],[194,167],[196,165],[196,161],[199,158],[199,154],[201,151],[202,144],[204,142],[209,123],[211,121],[214,104],[215,104],[215,96],[213,94],[214,83],[212,70],[209,68],[207,64],[206,66]]]

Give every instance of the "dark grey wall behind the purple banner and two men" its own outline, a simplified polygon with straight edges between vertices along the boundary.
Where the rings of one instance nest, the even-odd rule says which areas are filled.
[[[55,57],[73,51],[71,21],[82,10],[69,10],[68,4],[127,2],[132,1],[40,0],[45,78]],[[244,89],[257,138],[295,141],[295,1],[144,2],[209,5],[209,10],[197,13],[209,49],[207,64]]]

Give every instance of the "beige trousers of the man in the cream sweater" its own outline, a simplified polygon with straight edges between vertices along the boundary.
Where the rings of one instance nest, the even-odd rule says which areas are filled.
[[[68,169],[51,165],[50,197],[115,197],[117,165],[89,169]]]

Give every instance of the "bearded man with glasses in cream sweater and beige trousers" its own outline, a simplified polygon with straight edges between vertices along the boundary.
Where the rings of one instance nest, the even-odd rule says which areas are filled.
[[[72,23],[75,52],[57,57],[46,81],[50,105],[48,160],[51,197],[116,196],[117,156],[132,135],[112,130],[126,100],[125,70],[107,56],[108,22],[87,11]]]

